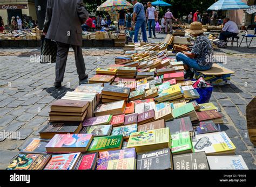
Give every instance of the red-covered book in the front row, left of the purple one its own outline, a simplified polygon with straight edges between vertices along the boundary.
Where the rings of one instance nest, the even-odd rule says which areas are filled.
[[[84,154],[77,163],[77,170],[92,170],[96,168],[98,153]]]

